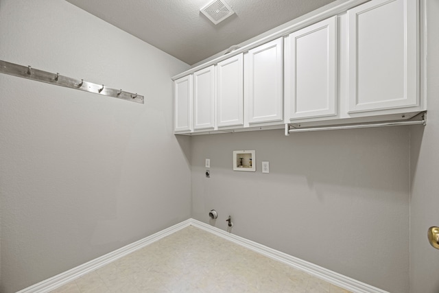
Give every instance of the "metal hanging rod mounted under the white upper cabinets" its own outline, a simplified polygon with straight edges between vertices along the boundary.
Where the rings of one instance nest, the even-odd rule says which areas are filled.
[[[370,124],[348,124],[340,126],[317,126],[317,127],[304,127],[298,128],[292,124],[285,124],[285,136],[289,136],[293,132],[309,132],[309,131],[322,131],[322,130],[340,130],[340,129],[355,129],[355,128],[373,128],[373,127],[388,127],[388,126],[405,126],[405,125],[423,125],[427,124],[427,113],[421,115],[420,120],[410,121],[391,121],[381,123]]]

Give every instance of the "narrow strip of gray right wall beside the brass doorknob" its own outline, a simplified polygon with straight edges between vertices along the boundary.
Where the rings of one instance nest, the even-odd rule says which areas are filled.
[[[439,226],[439,1],[427,3],[425,94],[427,126],[412,128],[410,201],[410,292],[439,292],[439,250],[427,242],[427,229]]]

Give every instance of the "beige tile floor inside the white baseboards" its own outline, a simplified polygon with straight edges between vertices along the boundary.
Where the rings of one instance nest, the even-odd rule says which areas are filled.
[[[193,226],[52,292],[349,293]]]

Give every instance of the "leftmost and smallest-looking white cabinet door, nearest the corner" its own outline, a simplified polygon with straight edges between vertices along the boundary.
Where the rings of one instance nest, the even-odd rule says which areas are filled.
[[[192,75],[174,81],[174,131],[190,132],[193,124],[193,82]]]

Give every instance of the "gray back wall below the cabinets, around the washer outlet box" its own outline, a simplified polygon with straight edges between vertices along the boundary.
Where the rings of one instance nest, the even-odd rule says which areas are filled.
[[[192,137],[193,217],[390,292],[409,291],[407,127]],[[233,150],[256,150],[234,172]],[[211,178],[204,159],[211,159]],[[270,173],[261,173],[261,161]]]

